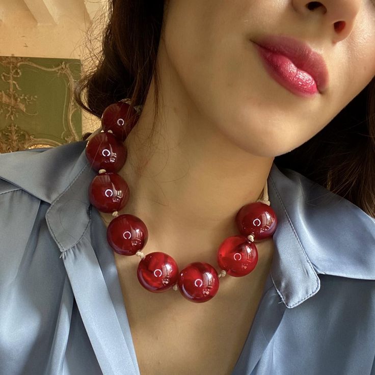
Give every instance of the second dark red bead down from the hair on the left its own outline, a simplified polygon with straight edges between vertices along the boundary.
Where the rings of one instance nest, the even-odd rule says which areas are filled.
[[[118,172],[126,156],[126,147],[111,133],[100,132],[86,145],[86,157],[96,172]]]

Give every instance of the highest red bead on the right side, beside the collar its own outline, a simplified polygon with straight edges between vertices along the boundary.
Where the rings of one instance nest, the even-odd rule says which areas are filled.
[[[253,202],[239,209],[236,224],[241,234],[254,234],[255,240],[271,237],[277,227],[275,211],[267,204]]]

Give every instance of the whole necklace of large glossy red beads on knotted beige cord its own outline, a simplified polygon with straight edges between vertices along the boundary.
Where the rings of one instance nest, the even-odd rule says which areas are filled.
[[[125,164],[127,149],[123,142],[138,121],[138,113],[127,102],[109,105],[101,117],[102,129],[86,145],[86,157],[99,174],[89,187],[91,204],[101,212],[112,212],[115,217],[107,228],[107,240],[112,249],[121,255],[141,258],[137,276],[140,284],[152,292],[170,288],[179,290],[192,302],[206,302],[219,290],[219,279],[226,274],[246,276],[258,262],[254,242],[271,237],[277,227],[277,218],[268,200],[267,182],[263,199],[244,205],[235,221],[240,235],[224,239],[217,260],[220,274],[209,263],[193,262],[179,272],[176,261],[166,253],[153,252],[146,256],[142,249],[147,243],[148,230],[138,217],[118,214],[129,200],[129,186],[118,175]]]

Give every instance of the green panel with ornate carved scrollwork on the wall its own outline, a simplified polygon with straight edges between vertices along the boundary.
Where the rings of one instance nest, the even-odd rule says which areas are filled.
[[[81,60],[0,57],[0,153],[79,141]]]

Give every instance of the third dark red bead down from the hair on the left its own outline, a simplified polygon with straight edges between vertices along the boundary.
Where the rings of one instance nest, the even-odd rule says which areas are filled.
[[[129,200],[126,181],[117,173],[102,173],[89,186],[90,203],[101,212],[120,211]]]

